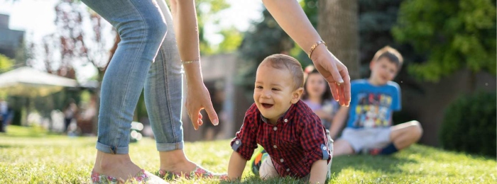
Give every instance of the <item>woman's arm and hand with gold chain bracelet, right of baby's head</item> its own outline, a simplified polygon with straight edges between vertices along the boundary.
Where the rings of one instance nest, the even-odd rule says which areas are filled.
[[[312,45],[322,40],[296,0],[263,0],[263,4],[281,28],[307,54],[310,54]],[[316,69],[328,81],[333,98],[339,100],[340,105],[349,105],[350,77],[345,65],[323,44],[317,45],[311,59]]]

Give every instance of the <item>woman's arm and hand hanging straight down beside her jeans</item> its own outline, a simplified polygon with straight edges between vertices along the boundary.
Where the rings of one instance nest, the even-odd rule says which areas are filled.
[[[205,108],[212,124],[217,125],[219,119],[212,108],[209,91],[207,91],[202,79],[195,1],[171,0],[170,4],[180,57],[182,62],[186,62],[183,67],[185,68],[188,88],[186,98],[188,116],[192,120],[193,127],[197,130],[203,123],[200,110]],[[195,100],[192,100],[193,97]]]

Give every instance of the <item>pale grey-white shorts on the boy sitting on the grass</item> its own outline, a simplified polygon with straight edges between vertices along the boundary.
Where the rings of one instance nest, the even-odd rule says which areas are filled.
[[[346,128],[342,132],[340,139],[346,140],[352,146],[356,153],[362,149],[383,148],[391,143],[391,128],[368,128],[354,129]]]

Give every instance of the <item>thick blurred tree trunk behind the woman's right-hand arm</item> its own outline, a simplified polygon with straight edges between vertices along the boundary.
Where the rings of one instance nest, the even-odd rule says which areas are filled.
[[[317,32],[349,69],[351,79],[359,73],[359,5],[357,0],[319,0]]]

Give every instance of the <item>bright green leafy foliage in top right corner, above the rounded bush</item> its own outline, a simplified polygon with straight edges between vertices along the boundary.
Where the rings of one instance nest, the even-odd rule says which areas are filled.
[[[463,68],[496,74],[496,1],[404,1],[392,33],[429,54],[410,66],[420,79],[438,81]]]

